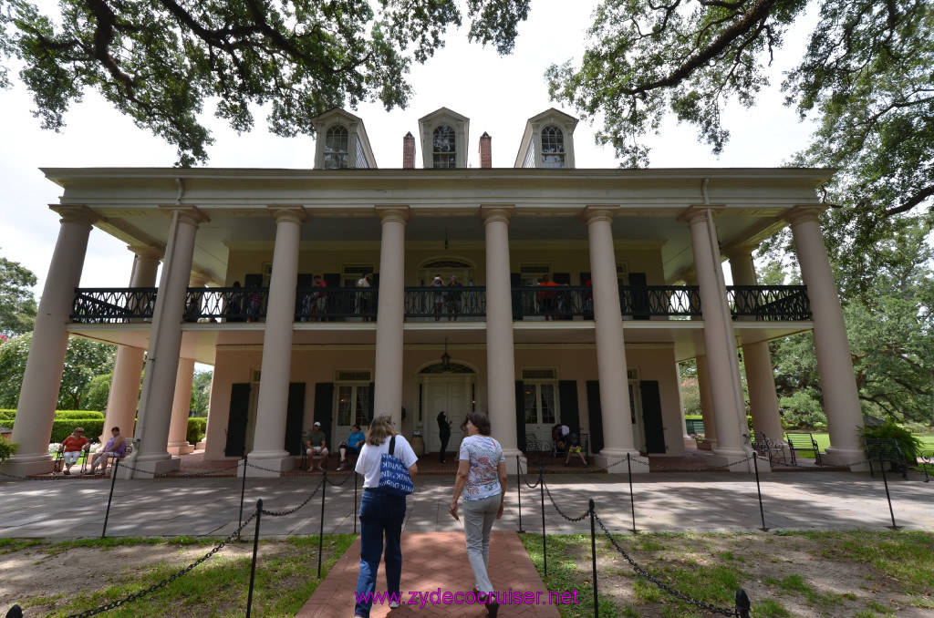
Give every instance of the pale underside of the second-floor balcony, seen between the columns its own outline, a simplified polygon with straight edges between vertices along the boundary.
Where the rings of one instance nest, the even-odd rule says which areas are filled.
[[[814,328],[813,322],[743,322],[733,323],[737,345],[767,342]],[[149,324],[70,324],[71,334],[107,344],[149,348]],[[213,365],[216,350],[262,348],[265,325],[186,324],[182,327],[181,356]],[[437,345],[445,339],[450,345],[486,344],[485,322],[424,322],[403,326],[403,344]],[[596,344],[592,321],[515,322],[513,339],[517,345],[564,346]],[[701,320],[624,320],[623,339],[628,346],[672,347],[675,360],[705,354]],[[292,345],[303,347],[375,347],[375,322],[298,323],[294,325]]]

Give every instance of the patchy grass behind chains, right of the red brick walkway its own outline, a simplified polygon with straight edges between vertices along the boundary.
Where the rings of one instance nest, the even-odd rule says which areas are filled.
[[[549,591],[576,587],[564,618],[593,615],[589,535],[521,535]],[[646,534],[616,542],[659,582],[698,601],[734,607],[743,588],[755,616],[896,616],[934,608],[934,533],[918,531]],[[605,536],[597,540],[602,616],[709,615],[637,574]],[[916,610],[915,610],[916,611]],[[914,614],[913,614],[914,615]]]

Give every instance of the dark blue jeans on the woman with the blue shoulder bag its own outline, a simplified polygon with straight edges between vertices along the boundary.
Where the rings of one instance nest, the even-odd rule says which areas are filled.
[[[386,535],[387,592],[399,593],[399,580],[403,574],[403,550],[400,545],[405,519],[405,498],[389,496],[378,491],[364,491],[360,501],[360,577],[357,579],[357,606],[355,615],[369,618],[372,598],[362,595],[376,590],[376,572],[379,556],[383,554],[383,535]]]

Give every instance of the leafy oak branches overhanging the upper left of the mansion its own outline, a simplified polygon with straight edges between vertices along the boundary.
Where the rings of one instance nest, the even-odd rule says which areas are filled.
[[[50,3],[49,3],[50,4]],[[460,25],[456,0],[62,0],[49,13],[0,0],[0,54],[24,64],[34,114],[60,130],[87,89],[178,147],[178,163],[205,162],[212,142],[199,121],[205,100],[238,132],[250,105],[272,104],[270,131],[312,133],[333,107],[412,93],[406,75]],[[529,0],[467,0],[470,38],[509,52]],[[8,85],[0,65],[0,85]]]

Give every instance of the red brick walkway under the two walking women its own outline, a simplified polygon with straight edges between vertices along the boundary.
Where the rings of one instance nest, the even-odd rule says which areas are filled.
[[[296,618],[334,618],[353,616],[354,590],[360,570],[360,539],[333,566],[328,576],[308,599]],[[489,577],[497,590],[539,592],[546,597],[545,583],[531,563],[515,532],[493,531],[489,543]],[[467,592],[474,587],[474,574],[467,562],[463,532],[404,532],[403,581],[405,591]],[[376,590],[386,590],[386,575],[380,564]],[[410,600],[403,595],[403,602]],[[404,618],[405,616],[445,616],[446,618],[483,618],[483,605],[401,605],[389,610],[387,605],[374,604],[372,618]],[[558,618],[554,605],[505,605],[500,616],[509,618]]]

